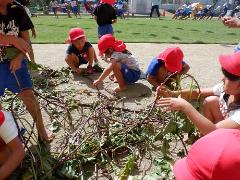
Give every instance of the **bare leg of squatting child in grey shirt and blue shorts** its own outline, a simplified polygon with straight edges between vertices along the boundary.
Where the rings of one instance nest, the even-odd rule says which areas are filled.
[[[118,87],[115,87],[113,89],[114,92],[120,92],[124,91],[126,89],[126,82],[123,78],[122,72],[121,72],[121,64],[113,61],[113,74],[117,79]]]

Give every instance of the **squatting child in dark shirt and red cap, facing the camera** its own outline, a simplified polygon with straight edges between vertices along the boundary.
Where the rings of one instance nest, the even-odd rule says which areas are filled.
[[[65,61],[77,74],[82,73],[79,68],[82,64],[88,64],[87,73],[94,73],[93,61],[97,63],[96,53],[92,45],[87,41],[86,35],[81,28],[72,28],[69,31],[69,37],[66,41],[69,43]]]

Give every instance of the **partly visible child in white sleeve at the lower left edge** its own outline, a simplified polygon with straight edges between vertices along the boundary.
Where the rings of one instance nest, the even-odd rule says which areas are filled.
[[[24,148],[11,113],[0,110],[0,179],[7,178],[24,156]]]

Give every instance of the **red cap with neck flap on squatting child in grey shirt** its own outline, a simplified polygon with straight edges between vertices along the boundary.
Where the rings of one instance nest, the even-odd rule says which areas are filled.
[[[126,45],[123,41],[116,40],[112,34],[106,34],[98,40],[99,55],[103,55],[109,48],[113,48],[117,52],[123,52]]]

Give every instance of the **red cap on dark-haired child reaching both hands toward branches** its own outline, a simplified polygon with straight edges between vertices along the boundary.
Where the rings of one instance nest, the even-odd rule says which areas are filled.
[[[227,72],[240,77],[240,52],[219,56],[219,62]]]

